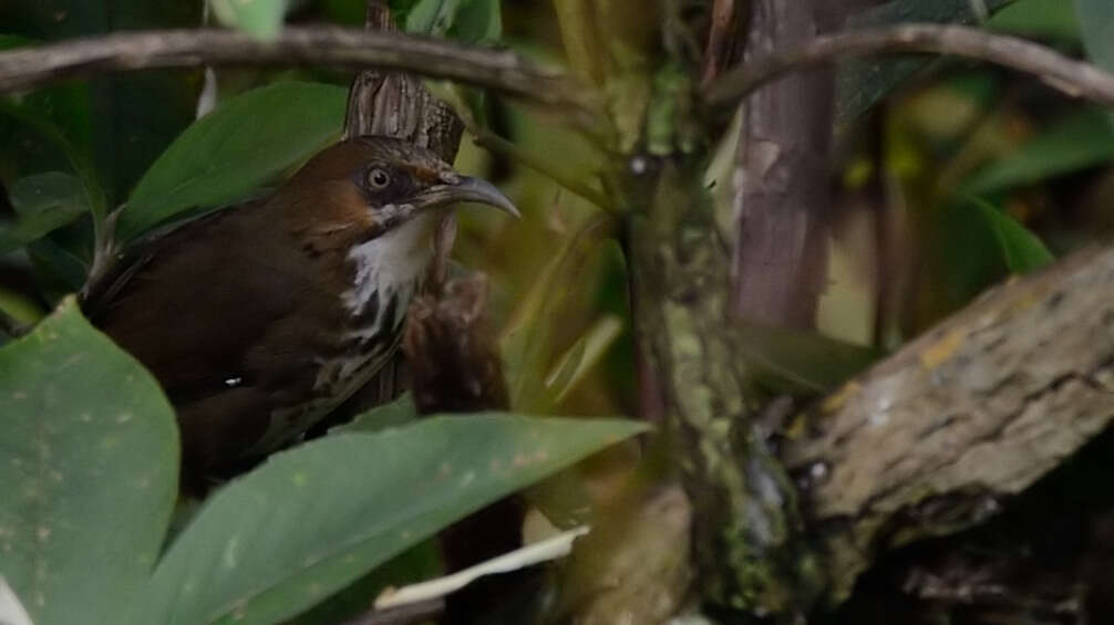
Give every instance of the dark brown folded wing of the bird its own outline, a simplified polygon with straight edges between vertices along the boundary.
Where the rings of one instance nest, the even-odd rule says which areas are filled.
[[[245,216],[246,210],[175,231],[91,314],[175,404],[268,385],[274,380],[260,379],[263,367],[252,367],[252,351],[293,357],[299,344],[314,338],[275,328],[313,312],[322,297],[320,280],[289,241],[253,231]],[[267,375],[281,377],[299,363],[278,365]]]

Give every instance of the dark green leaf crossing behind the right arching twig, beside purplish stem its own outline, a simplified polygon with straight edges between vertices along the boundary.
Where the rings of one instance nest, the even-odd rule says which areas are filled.
[[[988,12],[1014,0],[980,0]],[[1103,1],[1103,0],[1097,0]],[[973,0],[892,0],[848,18],[847,28],[861,29],[902,22],[977,23]],[[843,63],[836,80],[836,115],[840,121],[859,117],[903,80],[928,63],[926,57],[866,59]]]

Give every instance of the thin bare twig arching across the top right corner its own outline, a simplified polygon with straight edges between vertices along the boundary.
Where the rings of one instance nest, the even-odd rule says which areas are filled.
[[[837,60],[922,52],[955,54],[1032,73],[1053,89],[1114,106],[1114,75],[1045,46],[964,26],[902,24],[817,37],[725,73],[704,92],[715,109],[727,109],[762,85],[788,72]]]

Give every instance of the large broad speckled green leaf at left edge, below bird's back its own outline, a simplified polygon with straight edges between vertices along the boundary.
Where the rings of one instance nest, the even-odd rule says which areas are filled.
[[[0,349],[0,569],[37,625],[117,623],[177,493],[174,413],[72,297]]]

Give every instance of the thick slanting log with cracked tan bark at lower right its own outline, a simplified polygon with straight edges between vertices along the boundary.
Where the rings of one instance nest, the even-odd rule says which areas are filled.
[[[1114,248],[990,291],[829,397],[784,460],[841,599],[878,554],[1003,508],[1114,418]]]

